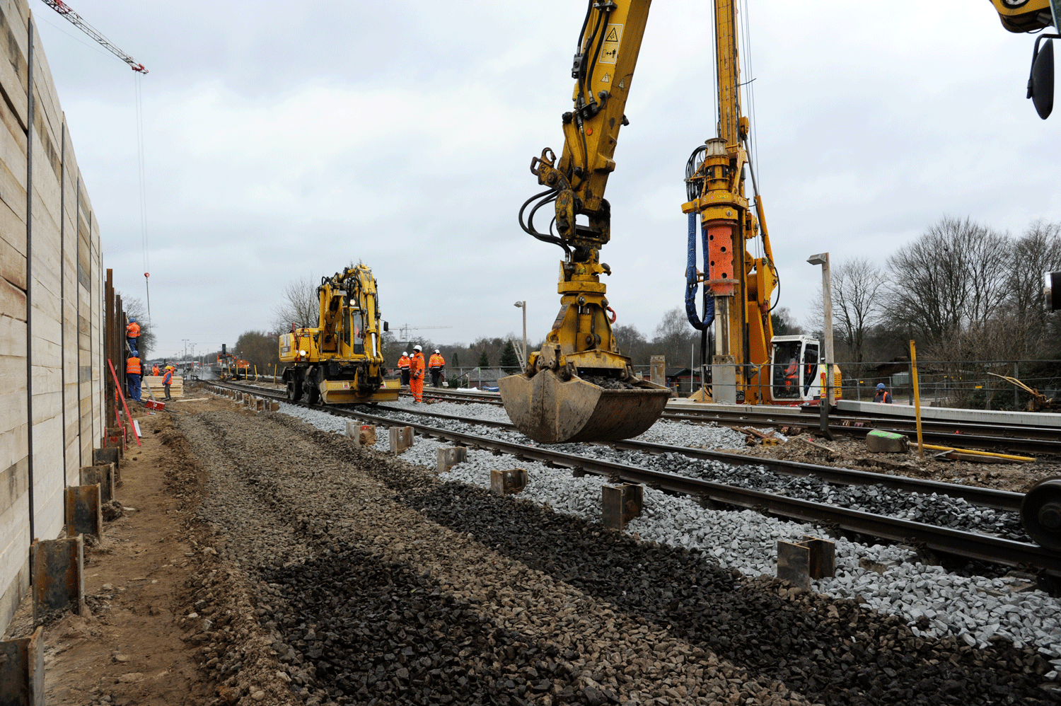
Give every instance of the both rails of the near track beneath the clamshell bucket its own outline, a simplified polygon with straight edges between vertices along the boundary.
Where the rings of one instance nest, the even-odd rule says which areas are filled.
[[[234,382],[210,382],[221,388],[228,388],[241,392],[251,393],[261,397],[288,401],[283,393],[269,391],[257,385],[241,384]],[[375,421],[382,426],[393,426],[396,419],[378,413],[368,412],[362,406],[356,409],[309,406],[299,402],[302,407],[308,407],[317,411],[327,412],[333,415],[356,418],[365,421]],[[377,411],[390,411],[386,409]],[[408,413],[408,410],[400,410]],[[431,416],[431,414],[428,414]],[[452,416],[452,415],[434,415]],[[473,424],[474,420],[465,417],[457,417],[464,423]],[[828,527],[837,528],[845,531],[855,532],[868,536],[879,537],[890,541],[903,543],[912,546],[923,547],[933,552],[952,554],[975,561],[1002,564],[1007,566],[1037,567],[1053,575],[1055,580],[1061,580],[1061,551],[1056,548],[1046,548],[1039,545],[1015,541],[1002,537],[995,537],[975,532],[967,532],[951,528],[915,522],[907,519],[875,515],[857,510],[849,510],[837,505],[810,502],[798,498],[790,498],[782,495],[755,490],[753,488],[735,487],[724,485],[712,481],[700,480],[680,476],[677,473],[664,472],[619,464],[606,460],[594,459],[564,451],[558,451],[549,447],[520,444],[506,440],[491,438],[480,434],[471,434],[452,429],[443,429],[429,424],[410,423],[405,420],[397,421],[402,426],[412,427],[416,433],[429,437],[447,442],[453,442],[462,446],[473,449],[487,449],[497,453],[508,453],[517,460],[538,461],[546,466],[570,468],[574,473],[594,473],[604,476],[613,482],[643,483],[654,488],[669,493],[681,494],[698,498],[702,501],[714,501],[742,509],[755,510],[758,512],[772,514],[786,519],[814,522]],[[500,423],[486,423],[490,426],[503,426]],[[643,443],[642,443],[643,444]],[[637,445],[637,448],[634,448]],[[642,450],[651,453],[650,447],[656,447],[656,452],[678,452],[694,451],[703,454],[713,461],[726,463],[736,462],[754,463],[755,465],[768,465],[768,460],[749,459],[738,454],[725,454],[723,452],[706,451],[701,449],[684,449],[682,447],[671,447],[662,444],[640,445],[636,442],[621,442],[614,444],[615,448],[624,446],[630,450]],[[732,458],[731,458],[732,457]],[[1005,510],[1019,509],[1017,499],[1023,499],[1022,494],[991,490],[988,488],[972,488],[963,485],[953,485],[935,481],[920,481],[918,479],[902,479],[894,476],[881,476],[879,473],[868,473],[866,471],[851,471],[848,469],[813,466],[812,464],[796,464],[792,462],[770,462],[778,464],[779,468],[786,468],[790,473],[817,475],[829,482],[845,484],[885,484],[893,483],[889,487],[898,487],[907,492],[924,493],[932,487],[929,493],[952,495],[953,497],[967,497],[969,502],[984,504],[985,506],[998,507]],[[768,466],[769,467],[769,466]],[[775,468],[771,468],[775,470]],[[778,472],[785,472],[779,470]],[[835,479],[835,480],[831,480]],[[930,485],[924,485],[930,484]],[[912,490],[909,488],[918,488]]]

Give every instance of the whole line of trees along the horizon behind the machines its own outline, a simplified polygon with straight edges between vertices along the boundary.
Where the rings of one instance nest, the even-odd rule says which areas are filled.
[[[1043,273],[1061,270],[1061,224],[1038,220],[1019,235],[998,231],[970,218],[949,216],[914,241],[884,258],[855,257],[832,265],[834,342],[837,362],[902,360],[908,343],[918,343],[926,359],[990,361],[1061,358],[1061,325],[1044,310]],[[273,331],[245,331],[232,352],[259,371],[278,364],[277,337],[295,326],[315,326],[318,278],[302,277],[285,288],[274,310]],[[676,304],[681,287],[676,285]],[[821,337],[821,291],[811,303],[806,326],[786,307],[770,316],[776,335]],[[683,308],[665,311],[650,334],[631,324],[613,328],[620,351],[634,365],[664,356],[668,367],[700,360],[701,334],[689,324]],[[438,348],[452,371],[501,367],[515,372],[516,346],[507,337],[481,337],[471,343],[436,344],[430,338],[398,341],[383,335],[387,367],[396,367],[403,350],[420,344],[429,356]],[[528,341],[528,351],[543,340]],[[1061,372],[1059,372],[1061,373]]]

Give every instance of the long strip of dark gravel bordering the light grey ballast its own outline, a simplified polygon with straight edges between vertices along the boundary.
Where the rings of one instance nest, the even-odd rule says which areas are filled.
[[[436,522],[474,534],[536,569],[621,609],[668,624],[749,672],[827,704],[1053,703],[1048,662],[1003,640],[976,651],[954,638],[915,637],[898,618],[852,601],[744,583],[680,549],[594,535],[536,504],[448,483],[406,501]],[[534,528],[533,531],[528,531]],[[763,588],[767,590],[763,590]],[[795,599],[795,600],[794,600]]]

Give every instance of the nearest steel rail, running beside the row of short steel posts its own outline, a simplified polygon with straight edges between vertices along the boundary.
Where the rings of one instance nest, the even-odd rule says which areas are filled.
[[[230,382],[215,383],[212,381],[211,384],[231,389],[242,388],[262,394],[265,397],[286,400],[286,395],[269,393],[269,391],[253,385],[239,385]],[[306,407],[330,412],[337,416],[375,420],[383,426],[394,425],[397,421],[390,417],[370,414],[361,410],[343,408],[321,409],[308,404]],[[518,461],[525,459],[541,461],[549,466],[571,468],[573,472],[591,472],[598,476],[606,476],[612,482],[644,483],[657,489],[770,513],[787,519],[833,526],[850,532],[922,546],[932,551],[954,554],[976,561],[1007,566],[1038,566],[1051,574],[1061,576],[1061,554],[1037,545],[974,532],[963,532],[935,524],[914,522],[906,519],[885,517],[857,510],[848,510],[837,505],[799,500],[763,490],[738,488],[712,481],[679,476],[677,473],[618,464],[598,459],[589,459],[574,453],[550,450],[540,446],[528,446],[503,440],[487,438],[476,434],[439,429],[423,424],[406,421],[400,421],[399,424],[412,427],[420,435],[429,438],[459,442],[470,448],[500,451],[514,455]]]

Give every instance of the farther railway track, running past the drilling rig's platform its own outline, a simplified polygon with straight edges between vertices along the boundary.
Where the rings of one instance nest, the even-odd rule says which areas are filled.
[[[497,393],[454,393],[438,390],[424,391],[423,396],[448,402],[479,402],[502,407]],[[788,409],[788,408],[785,408]],[[799,427],[819,429],[817,408],[807,408],[813,414],[779,414],[777,412],[748,410],[729,411],[716,409],[664,410],[662,418],[671,421],[715,421],[724,426],[738,427]],[[874,429],[916,435],[912,419],[889,415],[830,414],[829,430],[834,434],[865,436]],[[941,446],[957,445],[988,451],[1010,451],[1037,455],[1061,454],[1061,433],[1054,427],[1032,425],[990,425],[975,421],[940,421],[924,419],[921,424],[922,437],[927,444]]]

